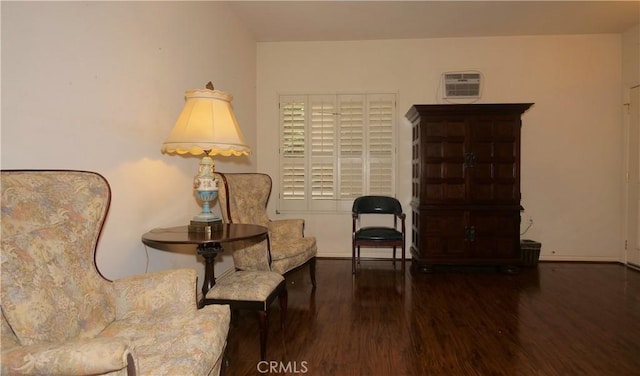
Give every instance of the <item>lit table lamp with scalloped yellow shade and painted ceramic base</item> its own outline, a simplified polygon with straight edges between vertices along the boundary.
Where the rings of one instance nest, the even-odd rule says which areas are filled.
[[[166,153],[204,155],[193,179],[202,212],[191,220],[189,232],[212,232],[222,226],[222,218],[211,212],[211,202],[218,196],[212,156],[251,153],[233,114],[232,99],[231,94],[215,90],[211,82],[206,89],[187,90],[184,108],[162,144]]]

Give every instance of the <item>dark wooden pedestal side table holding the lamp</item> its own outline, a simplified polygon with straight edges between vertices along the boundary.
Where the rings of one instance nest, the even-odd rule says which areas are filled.
[[[204,281],[202,296],[216,284],[214,260],[223,251],[221,243],[254,239],[267,236],[267,228],[250,224],[223,224],[220,230],[212,233],[190,233],[188,226],[156,228],[142,235],[142,242],[149,247],[171,252],[171,245],[195,244],[197,253],[204,257]],[[200,301],[199,306],[202,306]]]

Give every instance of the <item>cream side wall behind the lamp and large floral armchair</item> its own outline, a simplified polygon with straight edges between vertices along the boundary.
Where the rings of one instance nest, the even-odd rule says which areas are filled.
[[[195,253],[148,250],[140,236],[186,225],[198,158],[160,146],[186,89],[232,93],[256,145],[256,45],[218,2],[2,2],[2,168],[93,170],[112,188],[98,247],[109,278],[194,267]],[[217,159],[254,171],[255,157]],[[216,271],[232,266],[219,257]],[[202,279],[200,279],[202,280]]]

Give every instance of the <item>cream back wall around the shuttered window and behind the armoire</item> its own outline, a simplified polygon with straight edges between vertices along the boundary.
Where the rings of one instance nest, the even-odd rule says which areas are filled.
[[[413,104],[441,103],[441,73],[467,69],[484,74],[480,103],[535,103],[523,117],[522,204],[524,218],[534,221],[524,237],[542,242],[542,259],[620,260],[617,34],[258,43],[258,170],[278,176],[278,93],[396,91],[398,193],[408,212],[411,131],[404,114]],[[269,208],[277,217],[275,199]],[[319,256],[350,257],[349,213],[287,216],[306,219]]]

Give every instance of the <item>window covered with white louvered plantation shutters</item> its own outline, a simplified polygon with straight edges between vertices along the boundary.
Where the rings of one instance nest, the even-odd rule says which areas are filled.
[[[395,195],[395,94],[280,96],[281,211]]]

